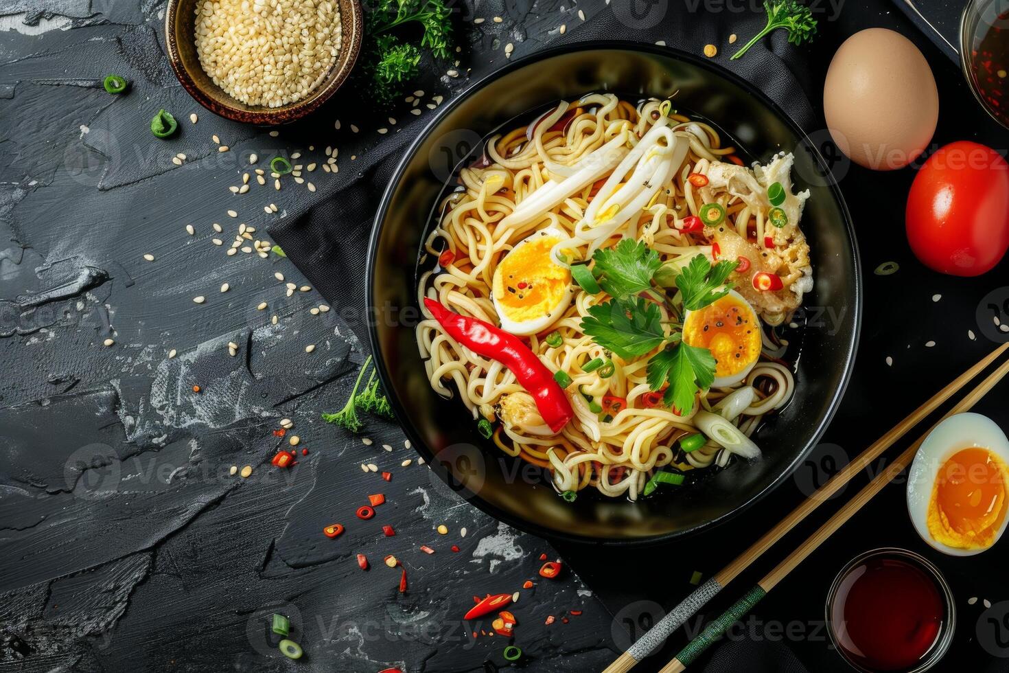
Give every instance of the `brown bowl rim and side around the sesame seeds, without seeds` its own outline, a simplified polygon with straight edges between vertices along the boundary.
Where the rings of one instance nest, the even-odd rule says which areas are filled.
[[[350,76],[361,49],[364,12],[358,0],[336,0],[340,8],[341,48],[326,79],[305,98],[269,108],[245,105],[226,94],[210,79],[196,52],[196,5],[199,0],[169,0],[164,12],[164,41],[169,62],[183,87],[196,102],[214,114],[249,124],[278,125],[301,119],[336,93]]]

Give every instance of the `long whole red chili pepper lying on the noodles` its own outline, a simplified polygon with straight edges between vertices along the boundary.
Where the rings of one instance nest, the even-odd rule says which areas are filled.
[[[452,313],[432,299],[425,299],[424,305],[450,337],[477,355],[489,357],[508,367],[519,383],[533,396],[540,416],[552,431],[560,432],[574,418],[571,403],[554,380],[553,372],[519,337],[482,320]]]

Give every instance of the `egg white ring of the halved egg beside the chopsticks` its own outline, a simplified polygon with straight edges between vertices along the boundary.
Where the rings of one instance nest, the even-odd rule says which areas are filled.
[[[950,556],[974,556],[990,549],[990,547],[984,549],[949,547],[933,540],[928,532],[928,506],[939,469],[954,454],[972,447],[988,449],[1001,458],[1003,463],[1009,465],[1009,439],[1006,439],[1002,429],[987,416],[966,413],[950,416],[928,433],[928,437],[915,453],[908,473],[907,513],[911,517],[914,530],[933,549]],[[1005,532],[1006,524],[1009,524],[1009,517],[1003,520],[992,542],[993,546]]]

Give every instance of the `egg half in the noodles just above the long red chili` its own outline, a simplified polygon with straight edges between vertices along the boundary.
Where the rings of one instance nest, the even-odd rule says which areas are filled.
[[[494,269],[491,292],[501,329],[535,334],[552,325],[571,303],[571,271],[550,257],[569,238],[560,229],[543,229],[520,241]]]

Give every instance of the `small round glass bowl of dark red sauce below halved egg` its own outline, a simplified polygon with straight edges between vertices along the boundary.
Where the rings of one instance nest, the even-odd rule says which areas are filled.
[[[852,559],[826,599],[830,641],[855,670],[921,673],[952,643],[949,585],[923,557],[883,548]]]

